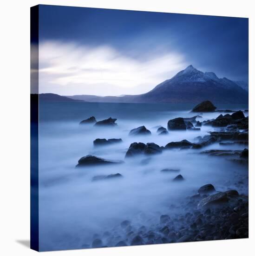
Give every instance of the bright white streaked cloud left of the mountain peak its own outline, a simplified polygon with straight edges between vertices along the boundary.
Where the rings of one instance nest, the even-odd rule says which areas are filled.
[[[131,56],[107,45],[43,41],[39,44],[39,93],[140,94],[190,64],[182,54],[169,50],[154,50],[139,59]]]

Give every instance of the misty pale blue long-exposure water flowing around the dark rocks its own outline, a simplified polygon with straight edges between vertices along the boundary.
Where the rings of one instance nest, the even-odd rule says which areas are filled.
[[[201,131],[170,131],[158,135],[157,126],[167,128],[167,121],[191,117],[194,104],[129,104],[59,102],[39,104],[39,241],[40,250],[89,248],[100,236],[105,246],[124,240],[121,229],[116,240],[107,244],[101,234],[120,226],[124,220],[137,227],[153,227],[160,215],[170,213],[171,205],[197,193],[202,185],[212,183],[216,190],[237,189],[236,182],[247,168],[222,157],[198,154],[206,149],[243,149],[244,145],[222,147],[214,143],[202,149],[164,150],[160,155],[140,155],[125,159],[132,142],[154,142],[165,146],[171,141],[207,135]],[[246,109],[245,105],[217,105],[219,109]],[[94,115],[97,121],[117,118],[117,126],[97,128],[79,122]],[[219,113],[204,113],[203,121]],[[132,128],[144,125],[148,136],[129,136]],[[97,138],[121,138],[111,146],[94,147]],[[247,146],[246,146],[247,147]],[[75,168],[85,155],[95,155],[124,163]],[[164,168],[179,173],[162,173]],[[120,173],[123,178],[92,182],[93,176]],[[172,179],[181,174],[183,182]],[[248,194],[248,188],[238,188]],[[115,229],[115,230],[116,230]]]

